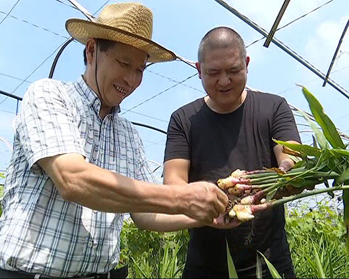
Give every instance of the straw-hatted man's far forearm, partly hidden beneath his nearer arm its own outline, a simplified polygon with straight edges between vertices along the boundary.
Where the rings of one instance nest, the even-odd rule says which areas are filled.
[[[131,216],[138,228],[156,232],[175,232],[203,226],[185,215],[132,213]]]

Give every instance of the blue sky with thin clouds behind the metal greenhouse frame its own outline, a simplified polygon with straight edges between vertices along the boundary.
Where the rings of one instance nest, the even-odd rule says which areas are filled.
[[[327,1],[290,1],[279,26],[285,25]],[[17,0],[1,0],[0,22],[16,2]],[[69,3],[67,0],[63,2]],[[98,10],[105,2],[106,0],[79,0],[79,3],[91,13]],[[112,2],[114,1],[109,1],[109,3]],[[241,34],[246,45],[261,37],[257,31],[214,0],[143,0],[141,2],[151,8],[154,13],[153,39],[191,61],[196,60],[199,42],[211,28],[232,27]],[[269,31],[284,1],[227,0],[227,2]],[[275,38],[326,74],[340,35],[349,19],[348,11],[348,0],[333,0],[316,12],[276,32]],[[68,37],[64,23],[70,17],[84,18],[79,11],[57,0],[20,0],[17,3],[11,14],[0,24],[2,42],[0,44],[0,90],[13,92],[22,82],[20,79],[27,78],[63,44]],[[35,24],[39,28],[22,20]],[[263,47],[264,41],[261,40],[247,49],[251,57],[247,85],[261,91],[282,95],[290,104],[308,110],[301,90],[295,84],[305,85],[317,96],[336,126],[349,133],[347,120],[349,100],[329,84],[322,87],[321,79],[272,43],[269,48]],[[76,42],[66,47],[53,78],[76,80],[84,71],[82,50],[83,46]],[[56,52],[28,78],[28,81],[47,78],[55,54]],[[141,86],[122,103],[122,110],[133,108],[173,86],[175,83],[168,78],[181,81],[196,72],[183,62],[158,63],[150,66],[149,70],[145,71]],[[349,90],[349,33],[344,38],[340,56],[334,63],[332,72],[330,77]],[[14,94],[23,96],[28,85],[29,82],[24,82],[14,91]],[[175,109],[204,95],[201,81],[195,76],[184,84],[179,84],[125,113],[124,116],[131,121],[166,130],[171,113]],[[0,102],[4,99],[4,96],[0,96]],[[16,100],[7,98],[0,104],[0,137],[11,143],[13,142],[11,122],[15,112]],[[298,117],[296,121],[303,123]],[[166,136],[143,127],[137,128],[143,139],[147,158],[162,163]],[[299,126],[299,129],[304,130],[304,127]],[[301,138],[303,142],[310,143],[311,134],[302,132]],[[7,167],[10,156],[11,152],[0,141],[0,170]],[[150,164],[154,169],[157,167],[152,162]],[[160,173],[161,169],[157,174]]]

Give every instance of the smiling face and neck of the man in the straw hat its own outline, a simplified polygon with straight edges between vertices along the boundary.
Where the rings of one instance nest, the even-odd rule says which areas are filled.
[[[115,43],[105,51],[98,47],[97,51],[96,62],[96,40],[89,39],[84,78],[101,100],[100,116],[104,118],[111,108],[118,106],[141,84],[147,54],[122,43]],[[99,92],[95,78],[96,64]]]

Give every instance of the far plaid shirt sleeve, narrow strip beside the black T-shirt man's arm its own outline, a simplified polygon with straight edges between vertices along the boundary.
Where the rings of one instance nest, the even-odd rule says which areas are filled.
[[[138,163],[137,163],[137,180],[146,181],[149,183],[154,184],[162,184],[160,179],[155,175],[155,173],[150,169],[148,161],[145,156],[144,152],[144,146],[143,142],[137,132],[137,130],[134,132],[136,135],[137,140],[137,156],[138,156]]]

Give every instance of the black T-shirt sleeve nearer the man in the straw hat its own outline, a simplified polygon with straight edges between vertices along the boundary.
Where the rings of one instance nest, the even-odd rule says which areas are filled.
[[[184,119],[184,117],[182,117],[182,119]],[[174,112],[171,115],[167,129],[164,162],[171,159],[190,160],[189,135],[186,134],[185,124],[182,119],[178,112]],[[187,133],[189,133],[189,131]]]

